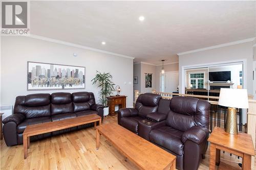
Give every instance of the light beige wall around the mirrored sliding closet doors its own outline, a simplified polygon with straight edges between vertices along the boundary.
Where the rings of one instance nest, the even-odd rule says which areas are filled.
[[[246,60],[246,88],[248,93],[252,94],[253,81],[253,42],[246,42],[236,45],[229,45],[221,48],[215,48],[211,50],[190,53],[179,56],[179,84],[181,87],[182,81],[182,66],[188,65],[204,65],[210,63],[228,62],[234,60]]]

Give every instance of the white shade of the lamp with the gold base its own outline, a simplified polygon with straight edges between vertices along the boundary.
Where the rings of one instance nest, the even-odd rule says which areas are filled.
[[[248,108],[247,89],[221,88],[219,105],[241,109]]]

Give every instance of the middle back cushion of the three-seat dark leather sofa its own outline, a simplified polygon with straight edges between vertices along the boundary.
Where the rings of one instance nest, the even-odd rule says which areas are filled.
[[[51,103],[52,115],[61,113],[72,113],[74,111],[71,93],[52,93]]]

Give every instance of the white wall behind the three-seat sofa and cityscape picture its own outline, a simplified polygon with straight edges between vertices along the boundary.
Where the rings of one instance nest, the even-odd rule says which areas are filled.
[[[78,57],[73,57],[73,53],[77,53]],[[28,61],[84,66],[86,67],[86,89],[27,91]],[[121,87],[121,94],[127,95],[126,106],[132,107],[133,59],[29,37],[2,36],[1,105],[14,105],[17,95],[76,91],[93,92],[97,102],[98,89],[91,82],[96,70],[112,74],[113,82]]]

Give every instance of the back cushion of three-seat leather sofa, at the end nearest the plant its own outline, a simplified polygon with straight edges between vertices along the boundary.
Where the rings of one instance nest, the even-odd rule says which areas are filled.
[[[72,93],[74,112],[90,110],[91,105],[95,104],[94,95],[91,92]]]

